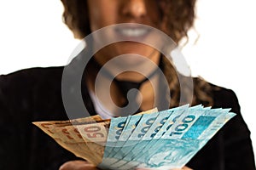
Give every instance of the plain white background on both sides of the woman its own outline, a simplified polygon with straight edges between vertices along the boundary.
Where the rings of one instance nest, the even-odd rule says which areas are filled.
[[[256,148],[255,0],[199,0],[196,35],[183,48],[193,75],[233,89]],[[79,41],[61,21],[60,0],[0,1],[0,74],[66,65]],[[256,150],[255,150],[256,151]]]

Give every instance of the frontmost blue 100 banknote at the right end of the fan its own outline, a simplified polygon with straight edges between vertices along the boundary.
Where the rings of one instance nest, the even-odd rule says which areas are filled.
[[[195,111],[191,111],[183,116],[182,122],[157,139],[156,145],[146,150],[147,156],[138,157],[136,161],[141,162],[143,167],[183,167],[225,122],[235,116],[233,113],[228,113],[228,115],[210,110],[199,116]],[[193,124],[189,126],[191,122]],[[214,131],[209,129],[214,129]]]

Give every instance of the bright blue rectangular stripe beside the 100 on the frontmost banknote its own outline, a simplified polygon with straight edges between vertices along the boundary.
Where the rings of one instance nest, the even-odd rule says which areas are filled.
[[[183,135],[182,139],[198,139],[215,118],[215,116],[200,116],[192,127],[189,128],[189,131]]]

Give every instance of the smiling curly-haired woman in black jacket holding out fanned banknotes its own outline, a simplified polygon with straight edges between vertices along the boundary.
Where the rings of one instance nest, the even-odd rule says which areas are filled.
[[[62,0],[62,3],[65,7],[64,20],[75,37],[80,39],[105,26],[138,23],[164,31],[178,43],[186,37],[195,17],[195,0]],[[147,31],[143,31],[141,27],[125,27],[119,32],[122,36],[131,37],[131,40],[134,40],[134,37],[148,36],[145,33]],[[109,38],[108,35],[103,37]],[[87,45],[94,48],[96,44]],[[115,116],[110,115],[114,112],[111,105],[105,102],[103,105],[96,103],[94,87],[97,73],[102,66],[122,54],[138,54],[154,65],[159,65],[168,82],[168,95],[172,95],[168,107],[179,105],[179,77],[170,61],[148,45],[134,41],[116,42],[97,51],[86,65],[81,90],[84,105],[90,115]],[[130,61],[129,58],[125,60]],[[70,68],[73,68],[73,63],[76,62],[74,59]],[[132,61],[131,64],[137,62]],[[96,169],[86,161],[73,161],[78,158],[61,149],[31,125],[33,121],[67,119],[61,99],[62,71],[63,67],[34,68],[0,78],[0,112],[3,114],[0,126],[4,139],[0,143],[0,169]],[[160,77],[154,74],[154,67],[149,67],[147,71],[153,79]],[[153,82],[158,84],[157,88],[161,88],[161,83],[157,80],[159,79]],[[114,104],[119,107],[127,105],[126,92],[134,87],[140,90],[141,98],[138,95],[133,96],[136,98],[133,100],[141,102],[141,105],[136,107],[138,111],[146,111],[155,106],[154,87],[136,71],[120,72],[114,77],[110,88]],[[104,89],[104,83],[100,83],[97,89]],[[189,87],[187,89],[189,91]],[[255,169],[250,132],[241,117],[236,94],[199,78],[194,79],[193,91],[192,105],[232,108],[237,116],[228,122],[183,169]],[[65,161],[67,163],[64,163]],[[64,164],[61,166],[62,163]]]

